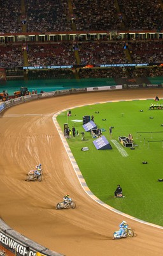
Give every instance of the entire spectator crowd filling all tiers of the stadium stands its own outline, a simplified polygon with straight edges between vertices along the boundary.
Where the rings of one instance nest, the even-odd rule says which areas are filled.
[[[24,0],[1,1],[0,35],[4,33],[37,32],[46,34],[64,31],[108,31],[122,29],[161,31],[163,28],[163,3],[160,0]],[[104,40],[83,40],[81,35],[69,41],[27,42],[27,52],[22,42],[3,42],[0,38],[0,67],[15,69],[24,65],[37,67],[94,65],[96,68],[72,70],[30,71],[30,77],[67,77],[77,73],[80,78],[89,77],[143,77],[162,76],[163,44],[157,40],[123,40],[106,35]],[[93,33],[92,33],[93,35]],[[89,38],[89,40],[87,40]],[[109,40],[107,40],[109,38]],[[112,39],[112,40],[111,40]],[[25,64],[26,63],[26,64]],[[150,68],[97,68],[101,64],[152,63]],[[156,65],[155,65],[156,64]],[[15,71],[16,72],[16,71]],[[7,72],[7,74],[11,72]],[[22,73],[21,73],[22,74]],[[34,78],[35,79],[35,78]]]

